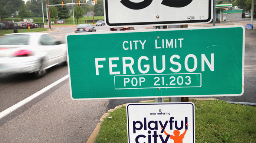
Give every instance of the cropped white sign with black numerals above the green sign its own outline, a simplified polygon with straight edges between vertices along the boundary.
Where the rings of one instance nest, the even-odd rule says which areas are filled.
[[[213,0],[104,0],[108,26],[209,23]]]

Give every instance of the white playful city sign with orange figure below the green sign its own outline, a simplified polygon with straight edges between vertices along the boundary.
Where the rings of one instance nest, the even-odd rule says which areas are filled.
[[[194,104],[127,105],[128,143],[194,143]]]

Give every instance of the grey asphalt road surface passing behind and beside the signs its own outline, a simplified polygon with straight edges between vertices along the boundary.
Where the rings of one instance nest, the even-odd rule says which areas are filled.
[[[73,28],[53,27],[51,36],[65,42]],[[135,27],[145,29],[145,27]],[[109,31],[106,26],[97,31]],[[244,95],[217,97],[225,101],[256,103],[256,31],[246,30]],[[95,39],[92,39],[95,40]],[[68,67],[57,65],[45,77],[28,74],[0,75],[0,112],[68,75]],[[216,97],[214,97],[216,98]],[[85,142],[110,108],[148,99],[71,100],[68,79],[0,119],[0,142]]]

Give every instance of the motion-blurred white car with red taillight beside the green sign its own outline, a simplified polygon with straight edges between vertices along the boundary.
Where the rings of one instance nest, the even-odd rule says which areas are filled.
[[[0,36],[0,74],[33,73],[42,77],[46,69],[67,64],[66,44],[47,33],[14,33]]]

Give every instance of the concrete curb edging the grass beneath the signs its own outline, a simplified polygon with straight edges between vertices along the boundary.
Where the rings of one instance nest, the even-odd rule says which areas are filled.
[[[194,99],[194,100],[218,100],[218,99],[214,99],[214,98],[189,98],[188,100],[191,100],[191,99]],[[150,101],[154,101],[154,100],[147,100],[147,101],[140,101],[140,103],[144,103],[144,102],[150,102]],[[127,104],[130,104],[130,103],[127,103]],[[104,121],[104,118],[106,118],[106,116],[109,115],[109,112],[113,112],[115,111],[116,109],[119,109],[123,106],[126,106],[127,104],[122,104],[122,105],[118,105],[116,106],[114,109],[109,109],[107,113],[103,114],[103,116],[101,117],[101,119],[99,119],[99,123],[98,125],[95,127],[95,129],[93,130],[91,136],[89,137],[89,139],[86,141],[86,143],[94,143],[95,139],[96,139],[96,136],[98,135],[99,133],[99,130],[101,129],[101,123]]]

